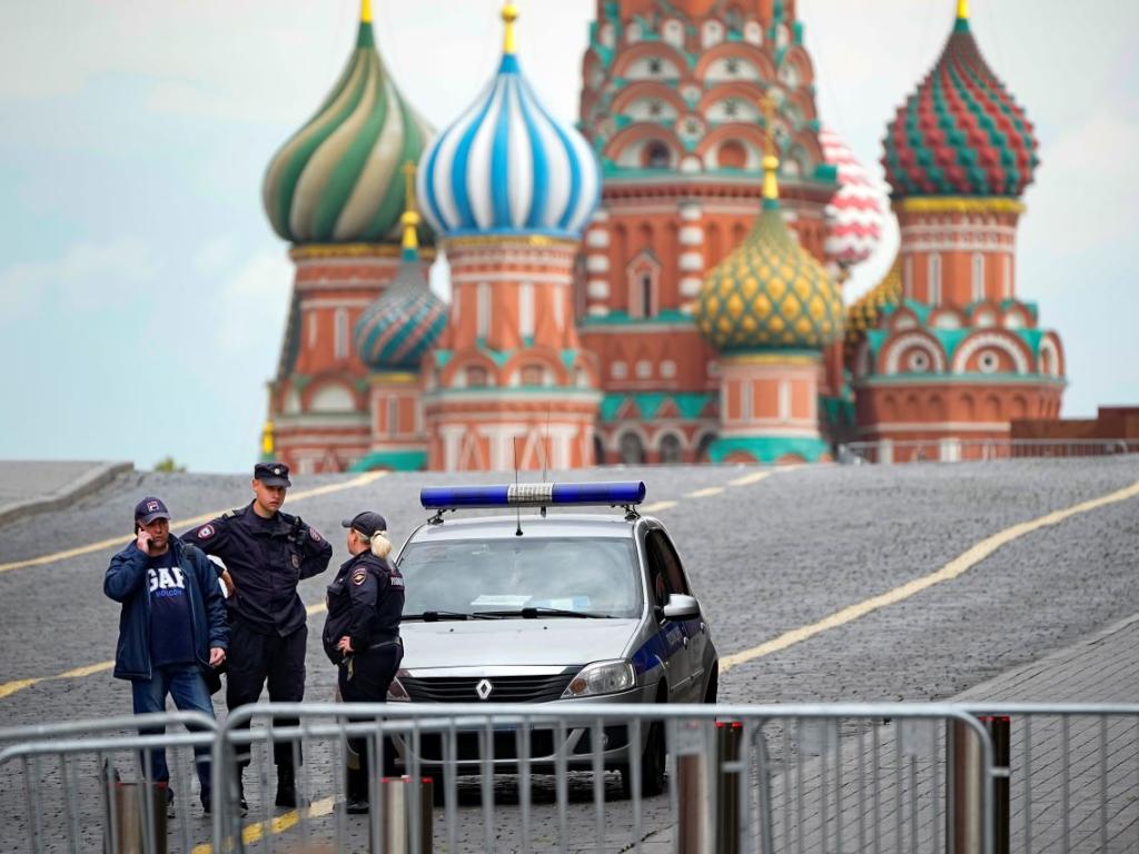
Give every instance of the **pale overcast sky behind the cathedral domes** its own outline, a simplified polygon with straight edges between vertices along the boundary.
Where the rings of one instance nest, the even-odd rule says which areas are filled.
[[[493,72],[498,0],[375,0],[398,85],[445,125]],[[576,116],[593,0],[519,0],[523,67]],[[1066,414],[1139,403],[1139,3],[973,0],[1036,125],[1017,290],[1068,356]],[[953,0],[800,0],[819,110],[880,174]],[[353,44],[358,0],[7,0],[0,28],[0,458],[248,468],[292,286],[260,186]],[[859,270],[886,269],[896,236]]]

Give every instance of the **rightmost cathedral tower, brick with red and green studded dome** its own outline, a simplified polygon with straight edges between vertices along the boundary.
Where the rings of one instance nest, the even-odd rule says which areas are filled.
[[[1058,416],[1064,351],[1016,287],[1036,139],[982,57],[967,0],[890,123],[883,164],[901,248],[852,312],[868,327],[849,340],[860,438],[887,461],[957,459],[1007,438],[1011,419]]]

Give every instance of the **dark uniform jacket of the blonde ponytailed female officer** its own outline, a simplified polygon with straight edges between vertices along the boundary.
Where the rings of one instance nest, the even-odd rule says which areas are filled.
[[[355,652],[400,634],[403,614],[403,576],[383,558],[364,551],[350,558],[328,585],[328,617],[322,640],[333,664],[343,656],[336,649],[341,638],[352,639]]]

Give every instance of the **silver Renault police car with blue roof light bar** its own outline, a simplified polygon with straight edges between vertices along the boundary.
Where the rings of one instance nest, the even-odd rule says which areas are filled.
[[[715,703],[712,633],[664,525],[641,516],[645,484],[428,487],[434,510],[398,563],[407,584],[405,654],[388,700],[412,703]],[[564,507],[620,508],[601,514]],[[460,509],[540,508],[538,515],[446,517]],[[588,769],[589,733],[535,730],[534,770],[555,755]],[[641,730],[641,791],[664,788],[661,723]],[[516,766],[513,733],[494,763]],[[470,736],[464,739],[464,736]],[[399,764],[409,747],[396,739]],[[420,742],[425,771],[442,766],[437,739]],[[625,728],[606,728],[603,764],[631,787]],[[460,733],[458,772],[480,773],[477,733]]]

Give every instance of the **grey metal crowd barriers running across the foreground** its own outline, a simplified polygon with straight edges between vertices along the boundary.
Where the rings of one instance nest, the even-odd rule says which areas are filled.
[[[298,723],[276,725],[287,718]],[[265,704],[214,732],[123,732],[138,724],[0,730],[0,848],[1139,851],[1139,704]],[[664,793],[649,796],[654,733],[670,759]],[[208,820],[190,798],[189,750],[203,741],[213,752]],[[295,811],[272,806],[277,742],[303,757]],[[159,832],[159,811],[141,798],[144,832],[124,847],[104,761],[142,779],[139,750],[158,745],[172,748],[175,818]],[[243,816],[233,759],[247,746]],[[374,770],[367,815],[344,810],[353,747]]]

